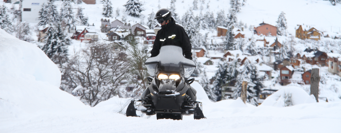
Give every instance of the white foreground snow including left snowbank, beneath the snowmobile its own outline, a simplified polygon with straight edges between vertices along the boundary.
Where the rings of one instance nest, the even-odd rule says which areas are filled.
[[[58,88],[60,72],[38,47],[2,29],[0,42],[1,133],[340,131],[341,102],[300,102],[289,107],[256,107],[240,99],[211,102],[198,82],[191,86],[197,90],[197,100],[203,102],[207,119],[194,120],[193,115],[183,120],[126,117],[118,112],[125,112],[124,105],[131,99],[113,97],[95,107],[84,105]]]

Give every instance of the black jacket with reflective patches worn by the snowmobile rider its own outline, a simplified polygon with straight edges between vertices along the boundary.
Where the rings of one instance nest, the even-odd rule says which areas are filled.
[[[192,45],[190,43],[190,38],[188,37],[185,30],[175,24],[175,20],[171,18],[168,24],[161,26],[161,30],[158,31],[156,35],[153,49],[150,51],[151,56],[157,56],[160,53],[161,46],[164,45],[175,45],[182,48],[182,53],[187,59],[192,60]]]

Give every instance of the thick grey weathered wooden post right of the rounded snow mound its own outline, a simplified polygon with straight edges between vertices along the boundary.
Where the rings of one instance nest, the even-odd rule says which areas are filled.
[[[311,77],[310,77],[310,95],[313,94],[316,102],[318,102],[318,85],[320,83],[320,69],[313,68],[311,69]]]

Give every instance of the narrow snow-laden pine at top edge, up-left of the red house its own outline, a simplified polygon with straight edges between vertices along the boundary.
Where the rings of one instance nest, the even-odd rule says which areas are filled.
[[[72,12],[71,0],[63,1],[62,7],[60,9],[60,20],[62,27],[66,26],[68,29],[71,29],[75,26],[75,17]]]

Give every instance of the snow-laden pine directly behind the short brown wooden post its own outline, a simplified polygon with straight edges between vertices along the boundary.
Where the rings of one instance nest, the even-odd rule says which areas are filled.
[[[263,88],[263,79],[258,76],[259,71],[256,66],[248,59],[244,64],[238,68],[238,75],[236,78],[236,87],[234,91],[234,99],[240,97],[242,82],[247,81],[247,98],[246,101],[252,105],[258,105],[258,95]]]

